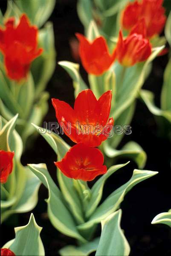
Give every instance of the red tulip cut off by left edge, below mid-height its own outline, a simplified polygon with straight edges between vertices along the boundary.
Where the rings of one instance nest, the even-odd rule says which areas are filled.
[[[14,152],[0,150],[0,183],[6,183],[13,168]]]

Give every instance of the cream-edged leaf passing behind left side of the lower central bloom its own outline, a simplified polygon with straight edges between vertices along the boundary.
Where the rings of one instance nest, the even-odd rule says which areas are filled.
[[[38,127],[37,125],[32,124],[38,132],[41,133],[43,138],[49,143],[52,149],[58,154],[58,161],[60,161],[67,151],[70,149],[70,146],[57,134],[54,132],[46,131],[43,132],[43,128]],[[78,180],[72,180],[65,175],[58,169],[57,172],[58,182],[61,188],[61,191],[64,195],[65,200],[70,206],[70,210],[74,215],[76,221],[80,224],[84,222],[83,212],[82,212],[82,205],[80,202],[80,198],[77,194],[77,191],[74,186],[78,185]],[[83,182],[85,183],[85,182]]]

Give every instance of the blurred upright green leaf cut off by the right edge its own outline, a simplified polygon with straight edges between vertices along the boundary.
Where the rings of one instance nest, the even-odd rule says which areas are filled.
[[[171,111],[171,57],[165,68],[162,93],[161,93],[161,108],[162,110]]]

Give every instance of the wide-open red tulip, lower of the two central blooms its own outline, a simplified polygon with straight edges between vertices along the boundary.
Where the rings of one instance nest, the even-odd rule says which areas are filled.
[[[69,178],[90,181],[107,172],[103,163],[104,157],[98,148],[79,143],[70,148],[64,158],[55,162],[55,165]]]

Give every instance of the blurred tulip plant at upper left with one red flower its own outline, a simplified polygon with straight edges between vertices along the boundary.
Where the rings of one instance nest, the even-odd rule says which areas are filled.
[[[47,113],[49,93],[44,89],[55,68],[53,26],[48,22],[38,29],[55,0],[50,4],[38,0],[28,14],[27,2],[31,3],[8,1],[6,13],[0,16],[0,113],[7,120],[19,114],[16,130],[24,146],[33,134],[30,123],[41,124]]]

